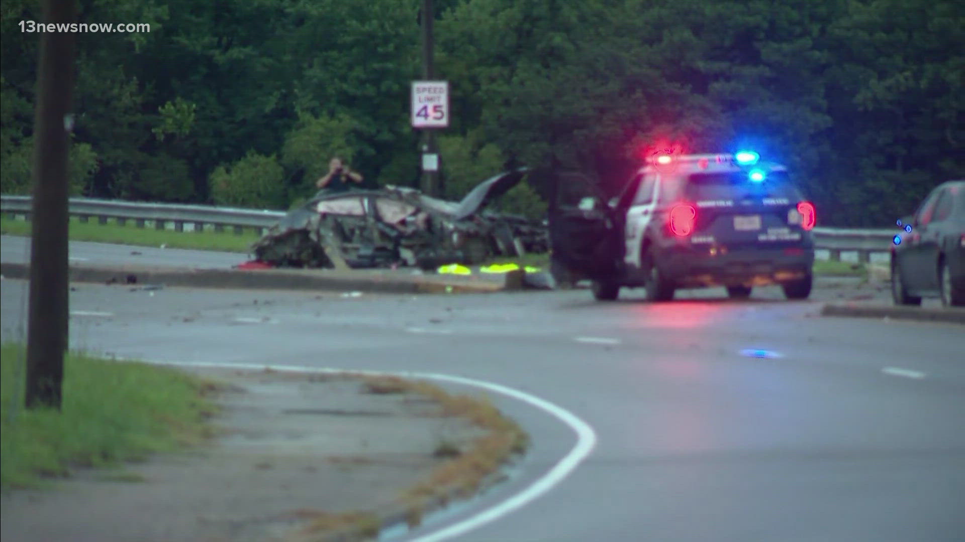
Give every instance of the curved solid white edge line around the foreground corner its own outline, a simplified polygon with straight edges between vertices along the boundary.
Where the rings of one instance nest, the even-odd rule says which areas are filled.
[[[494,384],[492,382],[485,382],[483,380],[476,380],[473,378],[464,378],[461,376],[453,376],[449,374],[439,374],[434,372],[407,372],[407,371],[380,371],[380,370],[353,370],[353,369],[341,369],[333,367],[311,367],[311,366],[272,366],[272,365],[250,365],[250,364],[219,364],[219,363],[209,363],[209,362],[160,362],[153,361],[148,362],[156,365],[164,366],[207,366],[207,367],[224,367],[224,368],[248,368],[248,369],[264,369],[269,368],[271,370],[277,371],[290,371],[290,372],[316,372],[316,373],[355,373],[355,374],[370,374],[374,376],[386,376],[395,375],[403,378],[427,378],[430,380],[439,380],[443,382],[452,382],[454,384],[462,384],[465,386],[474,386],[477,388],[483,388],[495,393],[501,393],[503,395],[512,397],[514,399],[529,403],[538,409],[546,412],[547,414],[556,417],[557,419],[563,421],[569,426],[573,432],[576,433],[576,446],[572,447],[566,455],[553,466],[546,474],[540,476],[535,482],[528,485],[519,493],[513,495],[505,501],[501,501],[498,504],[490,506],[476,514],[455,523],[449,527],[441,528],[435,532],[430,532],[424,536],[413,539],[410,542],[441,542],[443,540],[449,540],[460,534],[464,534],[473,530],[475,528],[483,527],[483,525],[498,520],[503,516],[510,514],[511,512],[525,506],[531,501],[537,500],[543,494],[549,490],[556,487],[557,484],[562,482],[566,476],[572,473],[580,463],[590,455],[593,451],[593,447],[596,447],[596,433],[593,431],[593,427],[590,426],[584,420],[580,420],[573,413],[569,412],[565,408],[555,405],[545,399],[540,399],[536,395],[530,393],[520,392],[519,390],[514,390],[507,386],[500,384]]]

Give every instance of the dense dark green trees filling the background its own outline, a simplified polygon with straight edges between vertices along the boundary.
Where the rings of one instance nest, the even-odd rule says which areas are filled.
[[[287,207],[341,154],[416,185],[419,0],[77,0],[76,191]],[[446,196],[511,164],[608,192],[656,146],[753,146],[822,222],[882,226],[965,176],[965,5],[955,0],[436,0]],[[29,189],[37,0],[0,8],[5,193]],[[538,192],[505,205],[538,213]]]

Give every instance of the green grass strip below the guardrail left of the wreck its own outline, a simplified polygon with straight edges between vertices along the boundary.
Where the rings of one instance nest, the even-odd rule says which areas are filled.
[[[79,218],[70,217],[70,240],[119,243],[143,247],[166,245],[172,249],[247,253],[251,244],[261,237],[253,229],[246,229],[244,233],[236,235],[232,229],[226,229],[223,232],[155,230],[152,224],[149,224],[146,228],[138,228],[133,221],[128,221],[124,226],[121,226],[111,222],[97,224],[93,220],[92,222],[82,223]],[[0,232],[4,235],[29,236],[30,231],[30,222],[14,220],[7,216],[0,218]]]

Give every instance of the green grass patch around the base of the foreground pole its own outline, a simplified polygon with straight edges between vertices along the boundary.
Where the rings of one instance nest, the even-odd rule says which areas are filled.
[[[143,460],[211,435],[205,421],[215,411],[205,398],[210,383],[169,367],[79,352],[64,360],[62,409],[27,410],[23,350],[19,343],[0,346],[0,483],[5,488],[37,485],[75,467]]]

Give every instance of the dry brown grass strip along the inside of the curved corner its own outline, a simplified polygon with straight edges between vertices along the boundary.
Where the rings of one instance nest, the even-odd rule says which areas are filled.
[[[396,376],[361,375],[367,393],[412,393],[433,401],[442,417],[461,417],[472,421],[485,430],[465,450],[449,443],[440,443],[434,452],[436,457],[447,457],[426,479],[402,491],[400,502],[406,508],[406,520],[410,527],[418,527],[432,502],[446,501],[455,492],[467,498],[478,491],[484,480],[494,474],[514,453],[521,453],[529,446],[529,436],[515,421],[503,416],[487,398],[472,395],[453,395],[426,381],[408,380]],[[380,526],[370,514],[346,512],[328,514],[302,510],[303,519],[311,520],[301,530],[308,536],[332,533],[333,530],[358,528],[364,535],[374,536]],[[361,534],[358,533],[357,534]]]

